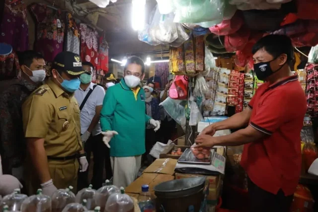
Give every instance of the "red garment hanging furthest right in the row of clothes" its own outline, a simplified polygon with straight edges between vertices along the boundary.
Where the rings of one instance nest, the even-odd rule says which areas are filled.
[[[99,38],[99,50],[98,50],[98,63],[97,70],[99,73],[104,75],[108,72],[108,43],[105,40],[104,36]]]

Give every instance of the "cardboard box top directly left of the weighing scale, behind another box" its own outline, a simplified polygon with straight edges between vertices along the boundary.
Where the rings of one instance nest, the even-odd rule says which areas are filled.
[[[159,173],[174,175],[174,168],[176,164],[176,159],[159,158],[155,160],[155,162],[153,162],[150,166],[148,166],[143,173]]]

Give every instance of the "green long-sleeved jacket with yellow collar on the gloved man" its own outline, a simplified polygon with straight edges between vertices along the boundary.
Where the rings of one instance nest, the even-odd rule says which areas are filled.
[[[118,133],[109,142],[110,156],[129,157],[145,153],[145,131],[150,119],[146,114],[143,88],[134,94],[124,79],[109,87],[100,112],[100,126],[103,132]]]

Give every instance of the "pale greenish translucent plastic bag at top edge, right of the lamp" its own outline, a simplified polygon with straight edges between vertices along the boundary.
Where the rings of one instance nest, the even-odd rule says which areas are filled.
[[[201,23],[223,19],[223,0],[173,0],[174,22]]]

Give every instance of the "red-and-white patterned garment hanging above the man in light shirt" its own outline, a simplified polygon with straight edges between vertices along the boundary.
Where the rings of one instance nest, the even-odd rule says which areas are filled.
[[[86,24],[79,25],[80,31],[80,57],[82,61],[90,62],[94,67],[98,64],[98,45],[96,30],[90,29]]]

